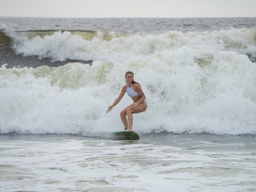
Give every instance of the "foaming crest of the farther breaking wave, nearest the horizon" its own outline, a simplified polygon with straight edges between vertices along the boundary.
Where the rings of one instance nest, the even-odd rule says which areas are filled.
[[[237,53],[255,53],[255,29],[230,29],[212,32],[182,33],[170,31],[164,34],[121,34],[104,32],[55,32],[14,33],[16,53],[36,55],[55,60],[124,60],[136,56],[154,55],[167,49],[201,46],[206,42],[224,44],[222,49]]]

